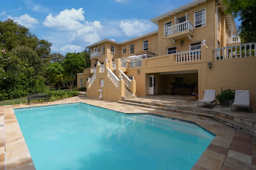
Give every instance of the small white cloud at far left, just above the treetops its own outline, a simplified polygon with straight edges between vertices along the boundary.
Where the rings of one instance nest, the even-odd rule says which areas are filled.
[[[24,14],[19,17],[12,17],[11,15],[8,16],[8,18],[14,20],[15,22],[19,23],[20,25],[23,25],[28,28],[32,28],[34,24],[39,23],[39,21],[30,15]]]

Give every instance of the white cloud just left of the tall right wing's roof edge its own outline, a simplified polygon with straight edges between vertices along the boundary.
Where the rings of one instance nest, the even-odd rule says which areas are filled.
[[[121,21],[119,27],[126,36],[138,36],[146,33],[153,24],[148,20],[125,20]]]

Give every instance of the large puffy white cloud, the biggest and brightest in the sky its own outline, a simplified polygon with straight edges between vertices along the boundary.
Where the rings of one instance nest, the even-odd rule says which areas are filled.
[[[83,8],[75,10],[65,9],[59,13],[59,15],[53,16],[49,14],[43,22],[44,26],[54,27],[58,30],[78,30],[83,27],[80,21],[84,21]]]

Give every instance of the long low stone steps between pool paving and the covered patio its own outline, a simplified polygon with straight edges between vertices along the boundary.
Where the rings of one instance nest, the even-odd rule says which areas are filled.
[[[160,103],[152,103],[152,102],[141,102],[138,100],[133,100],[129,98],[123,98],[122,101],[118,101],[118,103],[126,104],[126,105],[136,105],[140,107],[146,107],[156,110],[165,110],[170,112],[183,113],[188,115],[196,115],[202,117],[212,118],[214,120],[218,120],[225,125],[229,125],[234,127],[235,129],[244,131],[245,133],[256,136],[256,118],[250,116],[250,118],[242,117],[238,113],[228,113],[221,112],[206,108],[197,108],[197,107],[182,107],[182,106],[173,106],[173,105],[163,105]],[[232,114],[232,115],[231,115]]]

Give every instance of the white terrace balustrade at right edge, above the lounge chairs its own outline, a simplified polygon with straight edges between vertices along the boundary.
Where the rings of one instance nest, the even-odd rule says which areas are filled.
[[[256,42],[216,48],[213,50],[215,60],[251,57],[256,56]]]

